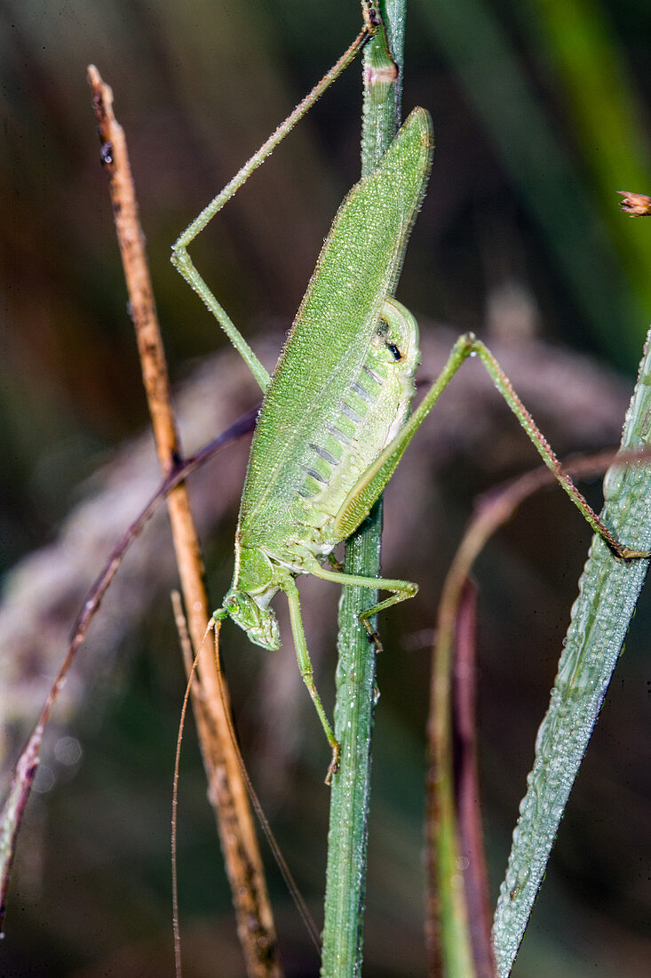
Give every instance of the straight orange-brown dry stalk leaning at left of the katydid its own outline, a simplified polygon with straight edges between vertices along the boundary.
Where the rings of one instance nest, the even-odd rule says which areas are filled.
[[[89,67],[93,104],[102,141],[102,159],[109,172],[110,198],[129,293],[130,312],[141,358],[143,380],[152,415],[156,451],[167,474],[181,455],[171,405],[165,357],[158,328],[144,236],[126,141],[112,113],[112,93],[96,67]],[[188,627],[198,649],[210,619],[203,583],[203,563],[188,493],[184,484],[167,500],[172,537],[188,614]],[[215,809],[224,861],[233,891],[239,941],[249,975],[280,975],[274,921],[264,881],[246,789],[229,733],[228,699],[220,695],[209,647],[199,657],[200,694],[194,696],[196,726]]]

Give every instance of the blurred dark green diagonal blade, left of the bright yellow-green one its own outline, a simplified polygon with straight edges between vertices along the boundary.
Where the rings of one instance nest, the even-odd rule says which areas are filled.
[[[626,288],[619,255],[605,229],[594,224],[593,203],[580,174],[541,108],[495,4],[420,0],[418,13],[482,118],[559,277],[602,348],[628,370],[637,357],[639,335],[614,334],[613,323],[643,322],[643,307]]]

